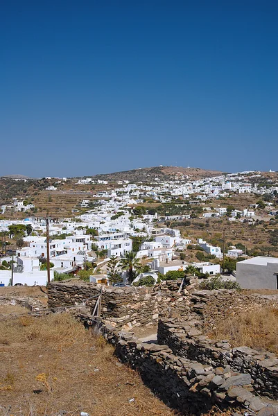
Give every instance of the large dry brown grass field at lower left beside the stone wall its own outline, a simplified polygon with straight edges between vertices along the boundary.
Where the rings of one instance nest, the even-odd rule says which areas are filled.
[[[174,415],[113,352],[67,313],[1,320],[0,415]]]

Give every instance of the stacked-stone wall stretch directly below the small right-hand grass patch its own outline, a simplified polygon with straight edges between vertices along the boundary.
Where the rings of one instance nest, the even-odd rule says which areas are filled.
[[[258,352],[247,347],[230,348],[227,340],[214,341],[202,334],[202,322],[193,315],[184,321],[173,318],[159,320],[157,341],[168,345],[177,356],[204,365],[225,367],[247,373],[259,394],[278,399],[278,358],[270,352]]]

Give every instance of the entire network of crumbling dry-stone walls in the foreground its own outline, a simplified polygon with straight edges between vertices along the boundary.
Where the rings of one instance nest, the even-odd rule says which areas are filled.
[[[76,317],[102,333],[119,359],[181,414],[198,415],[217,405],[241,408],[245,415],[278,416],[277,356],[244,346],[231,349],[227,340],[205,335],[207,327],[230,313],[278,306],[278,296],[197,291],[196,281],[186,282],[179,293],[180,284],[101,288],[78,280],[52,282],[49,309],[76,306]],[[93,317],[92,297],[101,291],[101,316]],[[158,325],[157,343],[134,336],[134,329],[153,325]]]

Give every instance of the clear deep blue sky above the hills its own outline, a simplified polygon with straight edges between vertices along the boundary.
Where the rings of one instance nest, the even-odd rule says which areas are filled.
[[[278,170],[277,0],[2,1],[0,175]]]

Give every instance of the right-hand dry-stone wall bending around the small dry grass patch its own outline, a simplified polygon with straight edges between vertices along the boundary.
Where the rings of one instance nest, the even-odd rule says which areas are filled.
[[[227,340],[211,340],[204,334],[207,326],[225,315],[241,308],[246,310],[275,302],[273,297],[245,296],[234,291],[192,293],[186,317],[159,320],[158,343],[168,345],[177,356],[214,367],[229,365],[234,371],[248,373],[258,394],[278,399],[278,357],[275,354],[247,347],[231,349]]]

